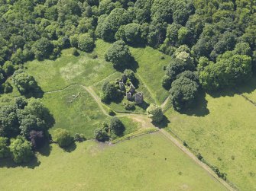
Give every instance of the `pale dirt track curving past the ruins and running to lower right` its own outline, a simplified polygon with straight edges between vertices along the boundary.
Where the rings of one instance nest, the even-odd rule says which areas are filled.
[[[105,110],[104,107],[107,107],[104,105],[104,103],[102,103],[102,101],[100,100],[99,96],[96,94],[96,92],[92,89],[91,86],[86,87],[83,84],[70,84],[68,86],[66,86],[66,88],[57,90],[57,91],[47,91],[45,92],[45,94],[51,94],[51,93],[56,93],[56,92],[60,92],[60,91],[65,91],[67,88],[70,88],[71,86],[74,85],[78,85],[82,88],[84,88],[89,94],[90,96],[96,101],[96,103],[99,105],[100,110],[102,110],[102,113],[105,114],[105,116],[109,116],[109,113]],[[164,108],[167,105],[169,97],[167,97],[167,99],[164,101],[164,103],[161,105],[162,108]],[[142,115],[142,114],[134,114],[134,113],[118,113],[116,112],[117,115],[119,117],[129,117],[131,119],[133,119],[134,121],[141,123],[141,127],[142,128],[157,128],[156,126],[154,126],[151,123],[151,119],[147,118],[147,116]],[[158,129],[158,128],[157,128]],[[215,180],[218,180],[219,183],[222,183],[223,186],[225,186],[226,189],[228,190],[235,190],[232,188],[232,186],[230,186],[227,182],[225,182],[225,180],[222,180],[221,178],[219,178],[213,171],[212,169],[207,166],[206,164],[204,164],[202,161],[199,161],[198,158],[196,158],[196,156],[186,147],[184,147],[178,140],[177,138],[174,138],[173,135],[171,135],[169,132],[167,132],[164,129],[160,129],[159,132],[161,132],[166,138],[168,138],[171,142],[173,142],[174,145],[177,146],[177,148],[180,148],[181,151],[183,151],[186,155],[188,155],[190,158],[193,159],[193,161],[196,162],[196,164],[198,164],[200,167],[203,167],[203,169],[205,169],[213,178],[215,178]]]

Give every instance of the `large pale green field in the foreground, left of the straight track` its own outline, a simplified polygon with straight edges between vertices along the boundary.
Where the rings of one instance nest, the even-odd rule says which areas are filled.
[[[112,146],[83,142],[70,153],[53,145],[50,156],[38,158],[34,169],[2,167],[0,189],[225,190],[158,133]]]

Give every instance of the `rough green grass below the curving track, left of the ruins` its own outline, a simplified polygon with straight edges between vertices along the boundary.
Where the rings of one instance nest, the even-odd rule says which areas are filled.
[[[94,138],[95,129],[102,127],[102,123],[109,120],[89,93],[79,85],[44,94],[42,101],[56,121],[50,132],[63,128],[70,130],[73,135],[77,132],[84,133],[86,138]],[[126,126],[125,134],[138,129],[138,124],[131,119],[122,118],[122,121]]]

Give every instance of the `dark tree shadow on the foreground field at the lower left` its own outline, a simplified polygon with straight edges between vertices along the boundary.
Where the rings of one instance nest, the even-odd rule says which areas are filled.
[[[24,163],[24,164],[15,164],[15,162],[12,161],[11,158],[0,159],[0,168],[1,167],[7,167],[7,168],[28,167],[28,168],[34,169],[35,167],[38,167],[40,164],[41,162],[38,161],[36,157],[33,157],[29,163]]]

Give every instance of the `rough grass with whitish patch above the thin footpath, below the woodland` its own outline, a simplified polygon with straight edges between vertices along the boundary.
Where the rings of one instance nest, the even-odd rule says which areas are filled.
[[[115,70],[105,59],[92,59],[90,54],[73,56],[72,49],[64,49],[56,60],[34,60],[25,64],[43,91],[65,88],[68,84],[89,86],[111,75]],[[97,52],[96,52],[97,54]]]

